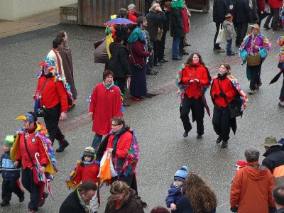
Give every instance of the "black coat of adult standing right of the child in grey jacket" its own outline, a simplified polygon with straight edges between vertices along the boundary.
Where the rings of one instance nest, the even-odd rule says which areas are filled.
[[[251,21],[249,0],[236,0],[235,16],[236,23],[249,23]]]

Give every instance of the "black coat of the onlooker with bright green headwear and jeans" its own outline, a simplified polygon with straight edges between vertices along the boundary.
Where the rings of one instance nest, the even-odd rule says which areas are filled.
[[[170,10],[170,36],[183,36],[182,9],[180,8]]]

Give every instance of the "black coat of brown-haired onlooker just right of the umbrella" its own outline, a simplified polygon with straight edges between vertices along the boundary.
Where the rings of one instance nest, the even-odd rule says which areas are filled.
[[[150,40],[156,41],[158,28],[165,21],[165,12],[161,11],[160,13],[155,13],[154,11],[150,11],[145,17],[148,22],[146,30],[150,35]]]

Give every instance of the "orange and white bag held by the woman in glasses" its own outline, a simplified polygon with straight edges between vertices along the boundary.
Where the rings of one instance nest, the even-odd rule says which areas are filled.
[[[117,173],[114,170],[114,165],[111,161],[111,153],[109,153],[109,151],[105,151],[99,166],[98,178],[102,178],[103,180],[110,180],[111,177],[115,176],[117,176]]]

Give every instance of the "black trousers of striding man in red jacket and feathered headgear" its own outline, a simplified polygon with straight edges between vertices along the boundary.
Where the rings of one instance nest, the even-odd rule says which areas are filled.
[[[55,107],[48,109],[48,116],[44,118],[46,129],[48,129],[48,134],[50,141],[54,143],[54,140],[63,141],[65,136],[62,134],[58,127],[58,122],[60,118],[60,104],[55,105]]]

